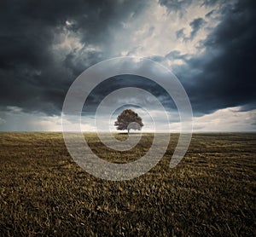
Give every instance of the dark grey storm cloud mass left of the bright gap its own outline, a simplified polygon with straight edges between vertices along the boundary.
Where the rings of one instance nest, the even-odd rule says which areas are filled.
[[[2,109],[60,113],[67,89],[79,73],[109,57],[109,30],[118,30],[120,20],[136,18],[145,6],[143,1],[1,1]],[[78,49],[72,49],[61,59],[53,44],[64,30],[79,34],[81,44],[97,45],[102,53],[84,49],[76,58]]]

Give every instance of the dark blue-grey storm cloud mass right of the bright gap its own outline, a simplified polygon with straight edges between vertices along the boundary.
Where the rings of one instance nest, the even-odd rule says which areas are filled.
[[[242,0],[225,8],[222,21],[201,47],[203,55],[184,58],[185,66],[174,69],[195,113],[235,106],[255,108],[256,2]]]

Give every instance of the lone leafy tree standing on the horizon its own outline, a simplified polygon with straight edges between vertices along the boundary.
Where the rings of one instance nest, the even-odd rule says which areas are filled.
[[[129,134],[130,130],[141,130],[144,124],[142,118],[137,113],[131,109],[125,109],[119,114],[114,125],[117,126],[117,130],[128,130]]]

